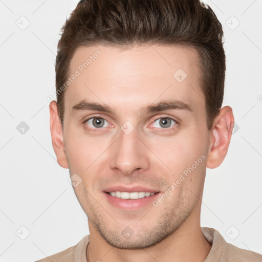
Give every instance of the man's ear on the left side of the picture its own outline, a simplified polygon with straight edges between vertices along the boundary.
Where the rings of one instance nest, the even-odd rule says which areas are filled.
[[[58,116],[56,101],[50,102],[49,110],[52,145],[56,154],[57,162],[61,167],[68,168],[67,156],[64,151],[62,124]]]

